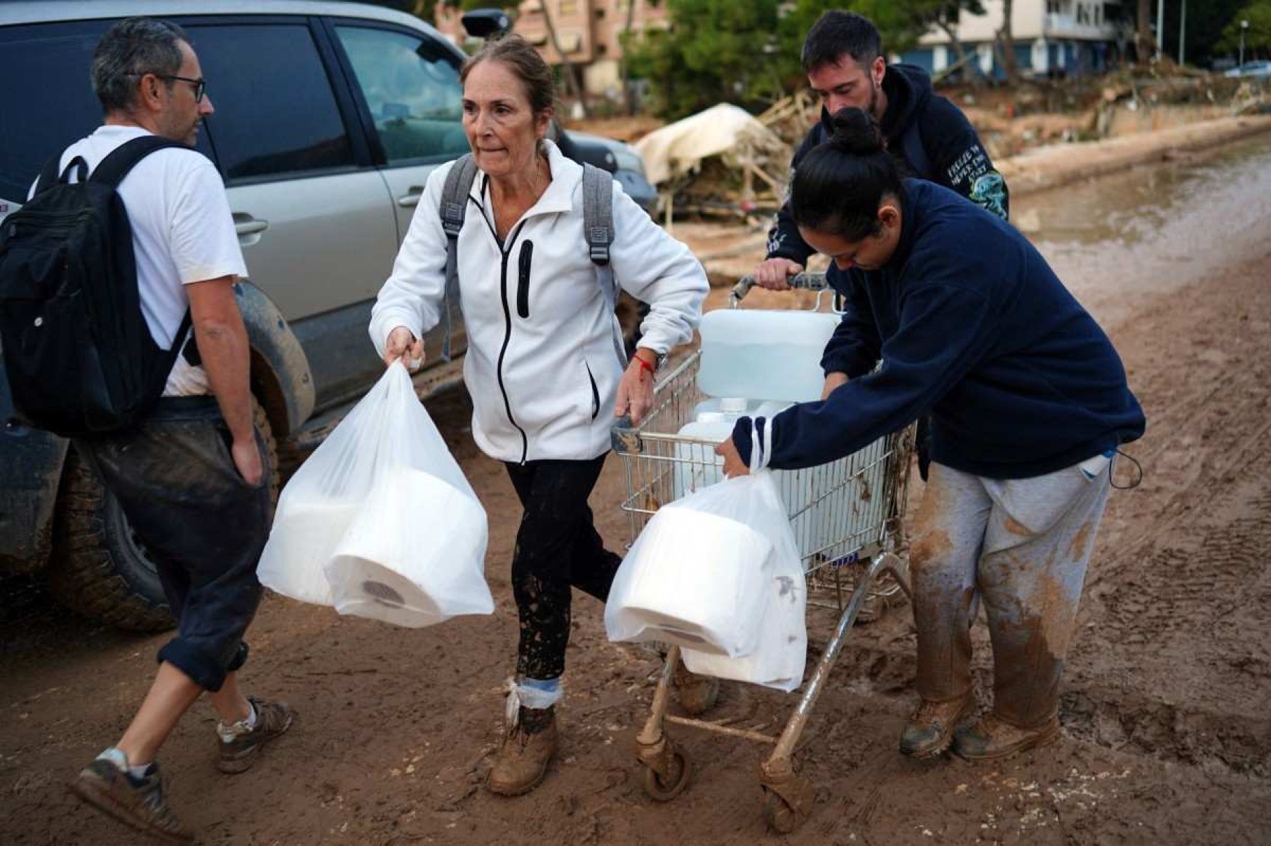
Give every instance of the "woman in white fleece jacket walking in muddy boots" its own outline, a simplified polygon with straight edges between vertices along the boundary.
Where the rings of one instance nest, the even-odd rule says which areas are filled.
[[[624,368],[614,315],[591,263],[582,168],[544,138],[552,71],[510,36],[468,60],[464,130],[478,174],[458,239],[468,330],[464,380],[473,437],[507,465],[525,508],[512,560],[521,633],[515,709],[487,785],[517,795],[547,775],[557,751],[554,702],[569,638],[569,588],[604,601],[622,559],[605,550],[587,507],[615,415],[649,408],[653,371],[693,338],[707,293],[702,265],[614,185],[614,279],[651,304]],[[423,198],[371,314],[371,338],[391,363],[421,359],[441,316],[446,235],[438,206],[450,166]]]

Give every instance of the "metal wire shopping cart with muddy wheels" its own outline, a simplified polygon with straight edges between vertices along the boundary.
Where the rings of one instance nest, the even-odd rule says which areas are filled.
[[[751,277],[742,278],[730,296],[730,306],[737,307],[751,287]],[[816,307],[827,290],[824,274],[815,273],[794,277],[792,287],[817,291]],[[714,442],[676,434],[705,399],[697,387],[699,357],[690,356],[655,387],[653,408],[638,427],[629,420],[614,427],[614,451],[622,456],[627,483],[622,509],[629,516],[633,540],[660,506],[722,478]],[[667,802],[689,782],[689,761],[666,733],[666,723],[674,723],[773,744],[771,755],[760,765],[768,824],[785,833],[811,813],[815,794],[811,781],[794,770],[794,746],[857,615],[880,591],[881,577],[891,574],[895,584],[909,593],[901,523],[913,443],[913,427],[907,427],[839,461],[774,474],[802,556],[808,603],[836,610],[838,625],[779,737],[667,714],[671,678],[680,661],[679,647],[671,647],[648,722],[636,738],[644,766],[643,788],[651,798]]]

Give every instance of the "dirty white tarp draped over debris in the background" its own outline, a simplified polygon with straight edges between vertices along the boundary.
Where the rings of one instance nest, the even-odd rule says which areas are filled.
[[[644,158],[644,174],[656,185],[697,169],[708,156],[745,149],[780,151],[785,145],[745,109],[719,103],[649,132],[636,149]]]

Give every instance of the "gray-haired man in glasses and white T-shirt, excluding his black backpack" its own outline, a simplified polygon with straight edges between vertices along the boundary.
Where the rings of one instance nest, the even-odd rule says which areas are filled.
[[[71,786],[135,828],[184,842],[193,835],[168,808],[154,762],[182,715],[208,694],[220,715],[222,772],[250,767],[294,718],[283,704],[245,697],[236,677],[261,601],[255,567],[271,511],[234,297],[247,268],[220,174],[189,149],[212,103],[186,33],[161,20],[123,20],[98,43],[92,79],[103,126],[62,152],[57,173],[65,180],[76,169],[123,170],[117,193],[131,226],[141,312],[160,348],[184,344],[184,354],[139,426],[74,443],[154,560],[177,635],[159,650],[158,675],[123,737]],[[155,136],[178,144],[159,145]],[[145,152],[139,159],[128,145]],[[48,187],[42,183],[32,196]]]

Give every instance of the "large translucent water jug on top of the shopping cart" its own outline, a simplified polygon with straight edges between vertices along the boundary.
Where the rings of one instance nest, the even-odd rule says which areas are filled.
[[[820,311],[707,312],[698,387],[708,396],[819,400],[825,387],[821,356],[838,325],[838,315]]]

